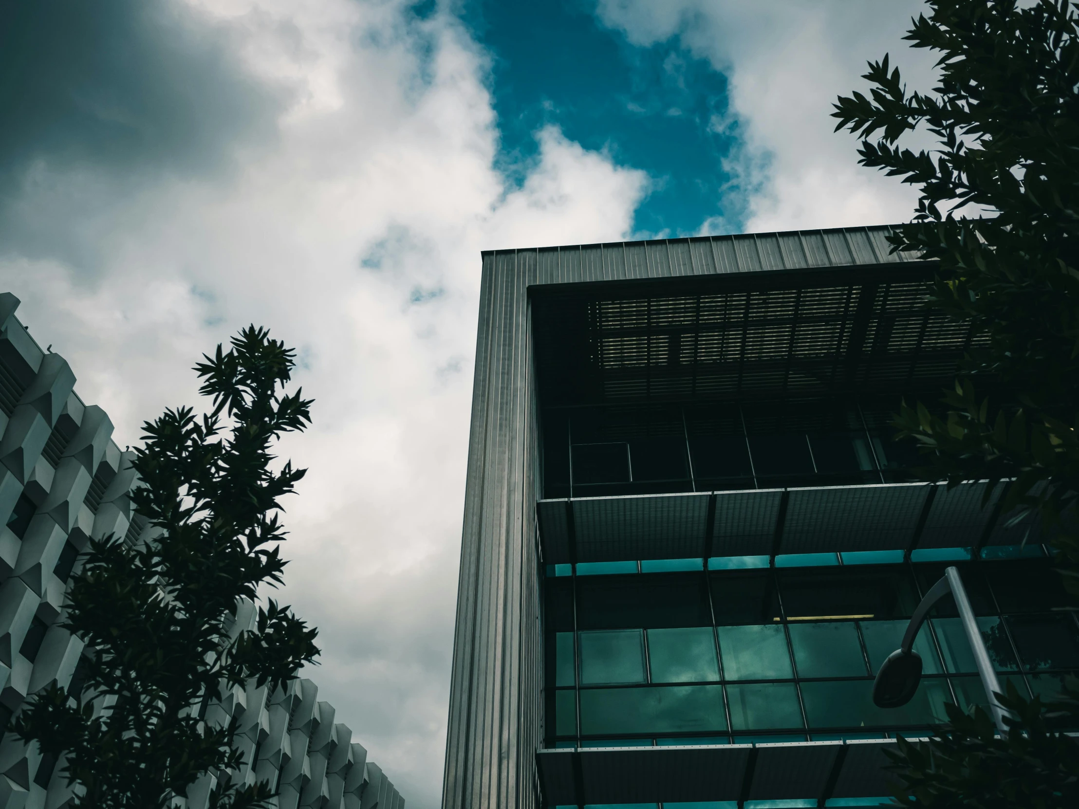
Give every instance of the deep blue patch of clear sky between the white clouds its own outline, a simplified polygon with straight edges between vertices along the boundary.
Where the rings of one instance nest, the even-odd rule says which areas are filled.
[[[724,168],[740,145],[727,82],[674,41],[650,47],[603,27],[586,0],[470,0],[463,18],[493,58],[502,135],[498,168],[520,184],[546,124],[616,163],[647,172],[638,236],[696,233],[722,218],[745,223],[746,195]]]

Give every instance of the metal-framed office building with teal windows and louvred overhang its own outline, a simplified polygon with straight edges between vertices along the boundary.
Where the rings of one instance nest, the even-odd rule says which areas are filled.
[[[1037,525],[905,472],[890,413],[976,338],[887,233],[482,255],[445,809],[879,803],[898,735],[985,702],[951,600],[871,700],[946,564],[1001,678],[1079,669]]]

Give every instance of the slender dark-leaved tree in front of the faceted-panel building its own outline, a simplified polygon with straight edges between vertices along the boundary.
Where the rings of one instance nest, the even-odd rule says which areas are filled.
[[[204,716],[222,688],[250,678],[275,688],[318,654],[316,630],[274,601],[258,607],[256,631],[234,631],[244,600],[282,582],[278,501],[305,470],[273,471],[271,447],[311,421],[311,400],[284,392],[293,356],[268,330],[244,329],[195,366],[210,413],[178,408],[144,425],[132,499],[158,534],[137,547],[117,536],[90,544],[62,617],[91,653],[84,690],[53,685],[11,728],[66,755],[78,807],[166,807],[205,773],[222,776],[211,807],[273,795],[264,782],[230,782],[243,764],[235,722]]]

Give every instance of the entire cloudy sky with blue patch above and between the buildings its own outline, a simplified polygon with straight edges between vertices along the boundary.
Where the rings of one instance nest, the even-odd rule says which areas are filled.
[[[281,594],[441,789],[479,251],[909,220],[831,104],[914,0],[0,0],[0,290],[124,447],[249,323],[314,424]]]

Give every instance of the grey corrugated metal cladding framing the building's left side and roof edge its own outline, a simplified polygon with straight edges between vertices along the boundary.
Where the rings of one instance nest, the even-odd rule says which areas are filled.
[[[541,803],[538,454],[528,288],[914,261],[890,228],[623,242],[482,253],[479,329],[442,805]]]

